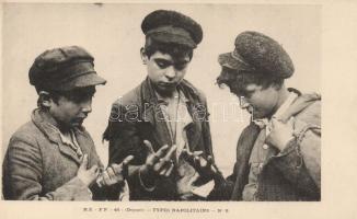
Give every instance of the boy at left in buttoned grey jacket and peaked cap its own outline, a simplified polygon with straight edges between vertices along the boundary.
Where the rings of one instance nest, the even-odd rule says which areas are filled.
[[[5,199],[91,200],[119,193],[131,158],[100,174],[103,165],[82,126],[95,85],[106,82],[93,60],[78,46],[46,50],[35,59],[28,77],[38,108],[10,139],[3,161]]]

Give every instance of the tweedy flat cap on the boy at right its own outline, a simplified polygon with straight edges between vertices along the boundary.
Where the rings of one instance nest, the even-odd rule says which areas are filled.
[[[257,32],[243,32],[234,44],[233,51],[219,55],[218,62],[222,67],[284,79],[292,76],[295,69],[289,55],[273,38]]]

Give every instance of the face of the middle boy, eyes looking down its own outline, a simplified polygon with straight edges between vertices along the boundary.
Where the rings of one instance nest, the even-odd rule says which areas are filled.
[[[169,54],[156,51],[150,58],[142,53],[142,61],[147,65],[148,77],[154,89],[161,94],[172,94],[182,79],[185,77],[189,55],[173,58]]]

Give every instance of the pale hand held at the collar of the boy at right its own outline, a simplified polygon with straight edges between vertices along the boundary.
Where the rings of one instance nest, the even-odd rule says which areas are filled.
[[[270,125],[272,130],[265,142],[281,151],[287,143],[293,139],[293,117],[291,117],[287,123],[283,123],[273,117]]]

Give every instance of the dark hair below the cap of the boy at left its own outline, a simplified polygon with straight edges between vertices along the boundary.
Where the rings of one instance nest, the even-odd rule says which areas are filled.
[[[37,90],[37,89],[36,89]],[[88,97],[91,97],[95,93],[95,87],[84,87],[84,88],[77,88],[70,91],[54,91],[48,89],[37,90],[39,91],[46,91],[49,94],[49,97],[57,104],[60,96],[66,97],[69,101],[72,101],[74,103],[79,103],[82,100],[85,100]],[[37,106],[43,107],[42,105],[42,99],[38,96],[37,99]]]

